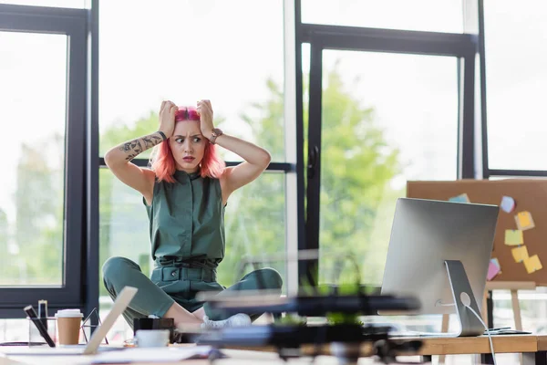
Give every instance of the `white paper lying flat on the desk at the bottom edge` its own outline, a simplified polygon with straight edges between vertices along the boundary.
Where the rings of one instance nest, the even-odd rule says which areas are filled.
[[[189,346],[170,348],[123,349],[103,352],[93,358],[94,364],[119,364],[129,362],[166,362],[188,359],[206,359],[216,349],[211,346]]]

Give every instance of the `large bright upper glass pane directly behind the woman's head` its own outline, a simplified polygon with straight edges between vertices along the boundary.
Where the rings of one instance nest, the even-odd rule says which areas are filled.
[[[161,100],[211,99],[225,133],[284,161],[283,2],[108,1],[100,25],[101,155],[121,142],[117,133],[157,130]]]

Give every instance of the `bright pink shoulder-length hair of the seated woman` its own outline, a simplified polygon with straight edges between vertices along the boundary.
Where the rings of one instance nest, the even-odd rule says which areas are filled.
[[[195,108],[181,107],[175,113],[175,122],[200,120],[200,115]],[[177,170],[175,164],[175,158],[173,152],[170,149],[169,139],[162,141],[159,145],[154,147],[152,155],[150,156],[151,168],[156,172],[158,180],[166,181],[167,183],[175,183],[173,174]],[[207,143],[205,145],[205,151],[203,152],[203,159],[201,160],[201,177],[210,177],[218,179],[221,177],[222,172],[226,164],[219,156],[216,145]]]

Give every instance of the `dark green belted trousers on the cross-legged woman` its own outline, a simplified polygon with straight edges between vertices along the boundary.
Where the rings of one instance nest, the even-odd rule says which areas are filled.
[[[103,282],[115,300],[126,286],[137,287],[139,291],[129,303],[123,317],[133,328],[134,318],[155,315],[164,317],[165,312],[177,302],[189,312],[201,307],[212,320],[228,318],[220,309],[213,309],[208,303],[196,300],[201,291],[222,292],[233,290],[267,289],[281,294],[283,280],[273,268],[262,268],[249,273],[232,287],[222,287],[216,281],[216,269],[209,267],[184,267],[175,264],[156,266],[150,278],[142,273],[140,266],[125,257],[110,257],[102,267]],[[262,313],[247,313],[253,320]]]

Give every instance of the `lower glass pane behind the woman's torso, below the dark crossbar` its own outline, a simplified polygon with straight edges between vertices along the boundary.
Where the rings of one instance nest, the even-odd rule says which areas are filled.
[[[99,183],[100,266],[110,256],[124,256],[139,264],[150,276],[154,263],[150,255],[149,220],[142,196],[120,183],[107,169],[100,170]],[[284,173],[264,173],[253,183],[232,193],[225,212],[226,255],[218,268],[219,283],[229,287],[241,278],[238,273],[243,258],[254,258],[261,267],[274,267],[286,283],[284,211]],[[243,266],[242,269],[246,274],[253,267]],[[102,272],[99,275],[100,316],[104,318],[112,300],[103,285]],[[132,338],[132,332],[120,317],[108,339],[122,342],[129,338]]]

